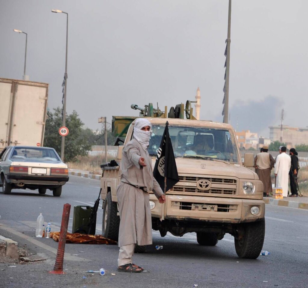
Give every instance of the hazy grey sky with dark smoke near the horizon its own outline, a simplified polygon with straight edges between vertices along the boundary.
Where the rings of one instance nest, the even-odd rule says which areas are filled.
[[[61,106],[69,13],[67,112],[137,116],[132,103],[175,106],[201,90],[201,119],[222,121],[228,0],[0,0],[0,77],[49,83]],[[231,124],[269,136],[269,125],[307,126],[308,1],[233,0]]]

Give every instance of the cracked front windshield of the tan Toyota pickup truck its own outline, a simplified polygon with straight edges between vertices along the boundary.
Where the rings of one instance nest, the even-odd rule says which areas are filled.
[[[164,125],[153,125],[148,152],[157,155]],[[169,135],[175,157],[223,160],[238,163],[237,148],[229,130],[170,126]]]

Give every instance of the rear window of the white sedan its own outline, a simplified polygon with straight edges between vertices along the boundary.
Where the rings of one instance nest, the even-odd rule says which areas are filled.
[[[60,162],[52,149],[15,147],[10,157],[12,161]]]

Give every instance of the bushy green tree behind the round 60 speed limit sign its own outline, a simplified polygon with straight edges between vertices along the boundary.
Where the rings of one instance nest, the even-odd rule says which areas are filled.
[[[64,162],[74,162],[77,156],[86,156],[91,150],[90,129],[82,128],[83,122],[74,110],[70,115],[66,115],[66,127],[69,134],[65,137]],[[62,109],[55,108],[54,113],[47,112],[44,146],[54,148],[58,154],[61,153],[61,136],[59,128],[62,126]],[[92,132],[90,130],[90,132]]]

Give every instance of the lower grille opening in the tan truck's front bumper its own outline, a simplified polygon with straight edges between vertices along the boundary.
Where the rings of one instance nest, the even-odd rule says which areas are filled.
[[[180,210],[192,210],[192,211],[214,211],[214,212],[236,212],[237,205],[229,204],[210,204],[210,203],[191,203],[191,202],[177,202],[172,201],[171,206],[173,208],[178,207]]]

